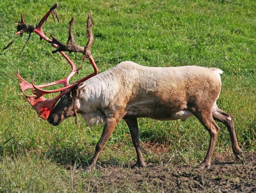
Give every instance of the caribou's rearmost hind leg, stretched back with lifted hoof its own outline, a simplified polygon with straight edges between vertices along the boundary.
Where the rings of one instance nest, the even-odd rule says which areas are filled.
[[[242,155],[243,151],[239,148],[237,139],[236,139],[233,116],[231,114],[228,114],[222,111],[215,103],[212,107],[212,117],[214,120],[220,121],[221,123],[225,124],[228,127],[228,132],[229,132],[231,143],[232,143],[232,150],[235,155]]]

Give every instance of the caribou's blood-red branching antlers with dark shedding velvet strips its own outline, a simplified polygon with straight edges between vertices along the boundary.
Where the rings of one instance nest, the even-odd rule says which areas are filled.
[[[54,81],[48,84],[44,84],[44,85],[34,85],[34,81],[32,80],[32,84],[29,84],[27,81],[25,81],[19,74],[19,70],[17,72],[17,77],[19,78],[19,84],[20,84],[20,90],[24,91],[26,89],[31,89],[32,92],[35,95],[32,96],[28,96],[26,95],[24,92],[23,94],[26,96],[24,99],[26,101],[28,101],[28,103],[36,110],[37,114],[43,118],[44,120],[46,120],[49,116],[49,114],[51,113],[51,111],[53,110],[55,104],[57,103],[57,101],[60,99],[61,96],[63,96],[64,94],[68,93],[70,91],[70,88],[75,87],[76,85],[84,82],[85,80],[91,78],[92,76],[95,76],[98,73],[98,69],[97,66],[92,58],[91,55],[91,46],[92,46],[92,42],[93,42],[93,34],[92,34],[92,24],[93,20],[90,14],[88,14],[88,20],[87,20],[87,37],[88,37],[88,42],[86,44],[86,46],[82,47],[82,46],[78,46],[75,42],[75,38],[73,36],[73,22],[74,22],[74,18],[72,17],[70,23],[69,23],[69,37],[68,37],[68,42],[67,44],[63,44],[62,42],[60,42],[59,40],[57,40],[52,34],[50,35],[52,37],[52,41],[44,34],[42,27],[44,22],[47,20],[47,18],[49,17],[49,15],[52,13],[53,19],[55,21],[55,17],[58,19],[59,21],[59,17],[57,12],[55,11],[55,9],[58,8],[58,3],[55,3],[50,10],[44,15],[44,17],[41,19],[41,21],[39,22],[39,24],[37,25],[36,28],[34,28],[33,26],[28,26],[25,24],[23,15],[21,13],[21,22],[20,23],[15,23],[16,25],[18,25],[17,30],[18,32],[15,33],[16,35],[20,34],[22,35],[22,33],[36,33],[37,35],[40,36],[40,39],[44,39],[45,41],[49,42],[52,44],[52,46],[54,46],[56,48],[55,51],[52,51],[52,53],[56,53],[56,52],[60,52],[60,54],[68,61],[68,63],[70,64],[72,70],[71,72],[68,74],[68,76],[64,79],[58,80],[58,81]],[[59,9],[59,8],[58,8]],[[91,24],[92,21],[92,24]],[[70,44],[69,44],[70,42]],[[69,79],[76,73],[78,72],[79,69],[82,68],[82,66],[80,68],[76,68],[76,66],[74,65],[74,63],[70,60],[70,58],[68,58],[68,56],[63,52],[63,51],[69,51],[69,52],[81,52],[83,53],[83,61],[85,58],[89,58],[94,72],[91,73],[90,75],[84,77],[83,79],[75,82],[72,85],[68,85],[69,84]],[[60,88],[60,89],[55,89],[55,90],[43,90],[40,88],[44,88],[44,87],[49,87],[55,84],[63,84],[64,87]],[[61,92],[57,97],[55,97],[54,99],[46,99],[43,97],[43,95],[48,94],[48,93],[53,93],[53,92],[59,92],[59,91],[63,91]]]

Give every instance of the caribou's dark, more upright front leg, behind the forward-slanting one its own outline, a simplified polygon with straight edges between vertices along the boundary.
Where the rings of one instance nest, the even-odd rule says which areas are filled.
[[[140,151],[140,133],[139,133],[139,126],[138,126],[138,121],[137,119],[124,119],[125,122],[127,123],[131,136],[132,136],[132,143],[135,147],[136,154],[137,154],[137,162],[136,164],[132,165],[131,168],[139,168],[139,167],[144,167],[146,166],[142,154]]]

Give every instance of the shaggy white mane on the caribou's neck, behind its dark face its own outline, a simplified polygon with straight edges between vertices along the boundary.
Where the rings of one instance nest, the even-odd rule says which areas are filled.
[[[77,97],[76,108],[90,127],[103,124],[106,119],[104,108],[118,92],[118,85],[111,70],[100,73],[85,81]]]

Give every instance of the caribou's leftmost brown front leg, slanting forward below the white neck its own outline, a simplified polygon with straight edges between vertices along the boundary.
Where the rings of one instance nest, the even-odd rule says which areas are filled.
[[[96,164],[97,158],[100,154],[100,151],[106,145],[110,135],[112,134],[114,128],[116,127],[117,123],[120,120],[121,120],[120,117],[115,118],[113,116],[106,119],[100,140],[95,147],[94,156],[93,156],[91,162],[89,163],[88,170],[95,170],[95,164]]]

